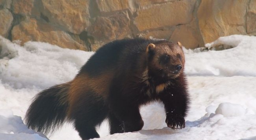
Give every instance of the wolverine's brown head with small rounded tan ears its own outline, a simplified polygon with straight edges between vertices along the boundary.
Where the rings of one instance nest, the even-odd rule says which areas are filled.
[[[176,78],[184,69],[184,53],[180,42],[159,41],[146,49],[148,67],[155,76]]]

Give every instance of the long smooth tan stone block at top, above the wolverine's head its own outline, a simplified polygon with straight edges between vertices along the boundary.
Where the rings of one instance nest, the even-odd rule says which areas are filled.
[[[135,24],[139,31],[145,31],[165,26],[176,26],[189,23],[193,18],[196,0],[175,1],[173,3],[141,9],[137,12]]]

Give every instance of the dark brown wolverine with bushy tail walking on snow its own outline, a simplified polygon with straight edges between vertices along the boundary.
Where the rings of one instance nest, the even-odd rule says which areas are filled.
[[[82,140],[99,137],[108,119],[110,134],[142,129],[140,107],[163,103],[166,124],[185,127],[189,94],[180,42],[123,39],[103,45],[67,83],[39,92],[26,112],[26,125],[47,134],[72,122]]]

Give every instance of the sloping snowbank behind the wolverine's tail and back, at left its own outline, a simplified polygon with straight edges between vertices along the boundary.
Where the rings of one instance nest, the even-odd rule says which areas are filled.
[[[21,47],[4,38],[0,45],[0,78],[15,89],[46,88],[69,81],[93,54],[43,42],[27,42]]]

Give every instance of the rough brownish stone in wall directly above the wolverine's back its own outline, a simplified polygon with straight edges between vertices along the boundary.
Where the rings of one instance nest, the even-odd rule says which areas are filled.
[[[100,41],[124,38],[130,32],[128,15],[121,13],[110,17],[97,17],[87,31],[89,35]]]

